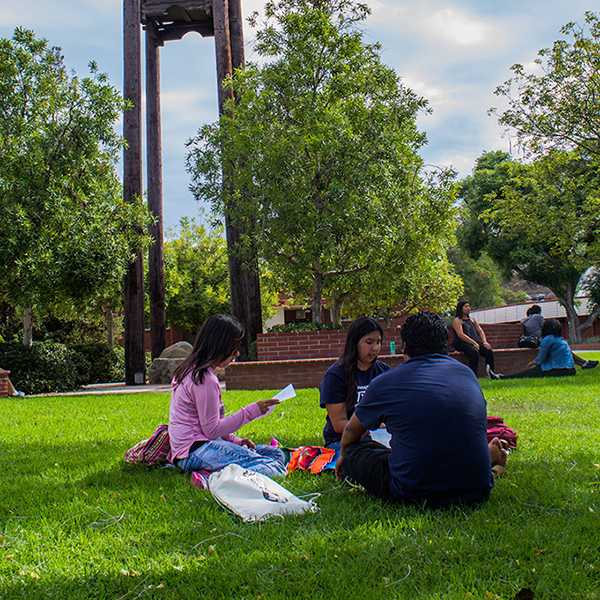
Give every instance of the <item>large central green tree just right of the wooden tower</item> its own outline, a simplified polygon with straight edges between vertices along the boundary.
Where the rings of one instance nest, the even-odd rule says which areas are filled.
[[[191,145],[196,197],[255,220],[259,253],[281,289],[311,298],[316,323],[327,290],[344,287],[336,281],[359,285],[370,270],[385,278],[389,249],[396,269],[418,269],[442,257],[432,240],[454,230],[447,174],[421,176],[415,119],[427,103],[364,43],[368,12],[353,0],[267,2],[262,66],[235,73],[237,103]],[[433,213],[437,229],[420,239]]]

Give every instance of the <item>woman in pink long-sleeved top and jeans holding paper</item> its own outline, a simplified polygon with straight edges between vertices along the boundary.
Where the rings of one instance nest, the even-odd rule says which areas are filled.
[[[261,400],[225,416],[215,369],[224,369],[235,360],[243,335],[242,326],[233,317],[209,317],[196,336],[192,353],[175,371],[169,410],[169,460],[186,473],[217,471],[233,463],[269,477],[285,473],[281,450],[256,446],[235,435],[278,400]]]

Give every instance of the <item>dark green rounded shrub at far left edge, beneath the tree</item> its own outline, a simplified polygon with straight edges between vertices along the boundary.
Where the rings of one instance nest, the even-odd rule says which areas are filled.
[[[89,368],[84,361],[57,342],[34,342],[31,348],[18,342],[0,344],[0,365],[11,372],[14,386],[26,394],[76,389]]]

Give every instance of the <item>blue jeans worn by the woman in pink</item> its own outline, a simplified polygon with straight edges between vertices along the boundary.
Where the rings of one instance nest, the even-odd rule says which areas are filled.
[[[267,477],[285,475],[285,454],[279,448],[256,446],[255,450],[238,446],[225,440],[213,440],[196,448],[187,458],[177,461],[185,473],[192,471],[218,471],[236,464]]]

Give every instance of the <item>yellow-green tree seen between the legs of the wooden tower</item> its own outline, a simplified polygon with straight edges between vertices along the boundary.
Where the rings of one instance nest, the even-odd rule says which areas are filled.
[[[210,315],[229,311],[227,244],[221,233],[184,218],[179,236],[165,242],[169,326],[195,332]]]

